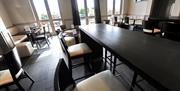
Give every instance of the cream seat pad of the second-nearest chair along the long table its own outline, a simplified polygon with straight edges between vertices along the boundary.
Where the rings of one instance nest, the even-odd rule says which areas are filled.
[[[85,43],[79,43],[68,47],[68,52],[71,57],[91,53],[92,50]]]

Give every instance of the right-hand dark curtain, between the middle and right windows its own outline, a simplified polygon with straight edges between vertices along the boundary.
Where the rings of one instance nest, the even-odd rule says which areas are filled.
[[[101,11],[100,11],[100,4],[99,0],[94,0],[94,13],[95,13],[95,22],[96,23],[101,23]]]

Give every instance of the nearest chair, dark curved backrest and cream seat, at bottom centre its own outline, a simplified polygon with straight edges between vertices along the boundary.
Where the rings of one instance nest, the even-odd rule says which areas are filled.
[[[128,91],[109,70],[97,73],[79,83],[70,75],[64,59],[60,59],[54,77],[55,91]]]

